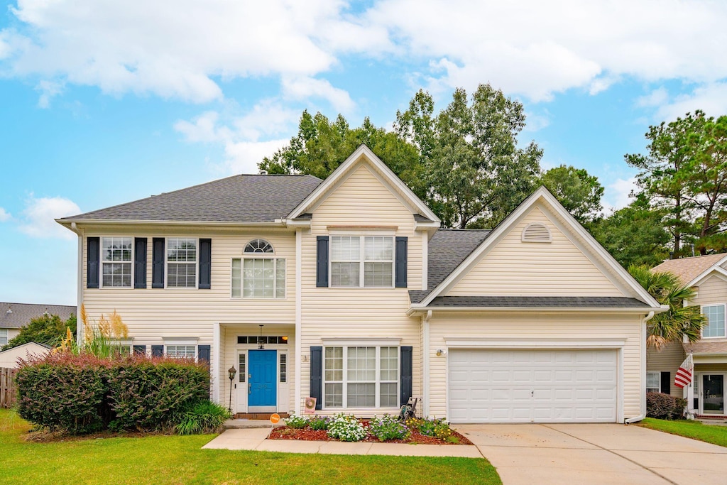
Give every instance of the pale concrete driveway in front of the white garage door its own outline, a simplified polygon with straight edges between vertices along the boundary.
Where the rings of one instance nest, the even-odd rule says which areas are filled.
[[[727,484],[727,448],[635,425],[457,425],[504,485]]]

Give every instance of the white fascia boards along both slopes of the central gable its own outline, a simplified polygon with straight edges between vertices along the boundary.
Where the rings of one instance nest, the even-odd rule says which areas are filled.
[[[321,183],[321,185],[318,185],[316,190],[308,194],[308,197],[303,199],[303,201],[298,204],[298,207],[293,209],[293,211],[288,215],[288,218],[294,219],[295,217],[299,217],[301,214],[303,214],[305,212],[305,209],[308,209],[308,207],[313,205],[318,199],[324,196],[324,194],[329,191],[330,188],[332,188],[340,180],[342,180],[342,178],[348,174],[351,167],[353,167],[356,162],[361,159],[361,156],[366,157],[369,163],[377,169],[377,172],[384,175],[384,177],[387,178],[387,181],[391,185],[397,188],[398,191],[401,191],[401,193],[406,196],[406,199],[408,199],[409,204],[411,204],[412,207],[416,207],[421,215],[427,217],[428,219],[439,221],[439,217],[437,217],[434,212],[432,212],[432,210],[427,207],[427,205],[422,202],[419,197],[417,197],[416,194],[414,194],[414,192],[412,192],[411,189],[407,187],[406,184],[403,183],[401,179],[397,177],[396,174],[392,172],[391,169],[387,167],[386,164],[382,162],[381,159],[379,159],[379,157],[377,157],[374,152],[372,152],[371,149],[366,145],[361,145],[356,148],[356,151],[351,153],[348,159],[340,164],[338,168],[335,169],[333,173],[329,175],[326,180],[324,180],[323,183]]]

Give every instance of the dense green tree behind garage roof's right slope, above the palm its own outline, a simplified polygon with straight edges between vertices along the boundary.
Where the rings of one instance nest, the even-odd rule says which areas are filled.
[[[651,209],[645,196],[590,225],[593,237],[624,268],[655,266],[669,257],[670,234],[664,229],[664,209]]]

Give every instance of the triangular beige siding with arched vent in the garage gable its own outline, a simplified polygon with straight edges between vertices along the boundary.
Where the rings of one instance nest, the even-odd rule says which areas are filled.
[[[553,242],[521,241],[526,225],[536,222],[547,225]],[[624,296],[539,207],[533,207],[446,294]]]

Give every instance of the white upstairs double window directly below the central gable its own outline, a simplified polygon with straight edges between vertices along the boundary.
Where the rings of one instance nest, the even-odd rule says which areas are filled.
[[[331,236],[331,286],[394,286],[392,236]]]

